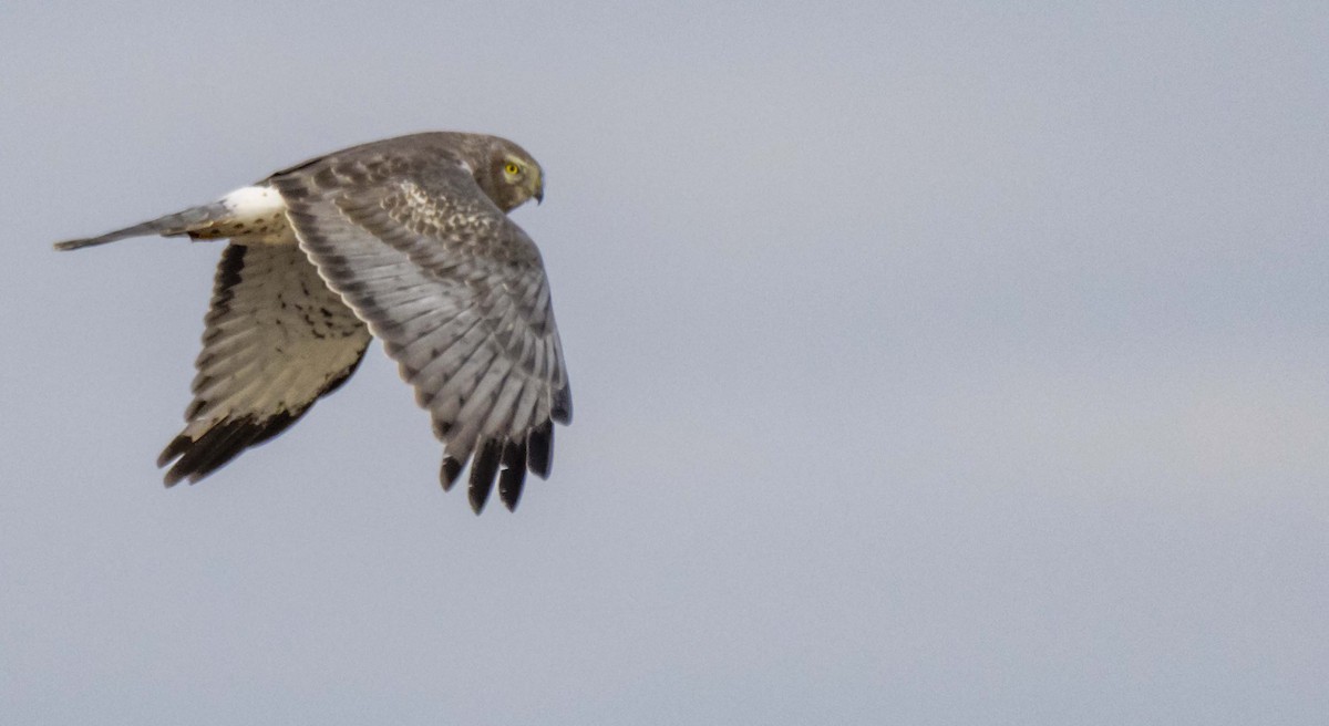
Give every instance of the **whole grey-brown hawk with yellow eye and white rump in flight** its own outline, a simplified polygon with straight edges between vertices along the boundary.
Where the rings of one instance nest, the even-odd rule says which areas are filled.
[[[544,196],[516,143],[436,131],[355,146],[217,202],[101,236],[230,239],[203,319],[185,429],[166,486],[207,476],[295,423],[383,340],[444,443],[440,479],[469,462],[470,507],[494,480],[513,510],[549,476],[571,390],[540,251],[508,212]]]

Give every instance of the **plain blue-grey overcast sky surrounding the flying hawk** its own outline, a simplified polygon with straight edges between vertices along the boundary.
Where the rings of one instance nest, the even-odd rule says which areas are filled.
[[[429,129],[546,170],[553,478],[375,345],[162,488],[221,244],[51,243]],[[1322,1],[8,0],[0,721],[1329,722],[1326,129]]]

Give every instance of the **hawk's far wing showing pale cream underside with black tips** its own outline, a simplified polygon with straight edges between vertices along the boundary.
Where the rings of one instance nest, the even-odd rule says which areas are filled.
[[[197,482],[336,390],[369,330],[295,244],[230,244],[217,267],[194,402],[157,466]]]

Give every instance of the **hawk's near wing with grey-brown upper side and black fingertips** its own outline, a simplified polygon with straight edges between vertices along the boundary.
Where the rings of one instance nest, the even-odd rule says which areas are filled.
[[[300,247],[432,415],[444,488],[469,459],[472,508],[497,476],[510,510],[528,469],[549,475],[552,422],[571,418],[549,280],[530,238],[440,154],[334,155],[271,182]]]

